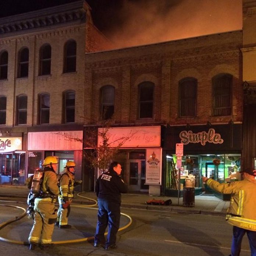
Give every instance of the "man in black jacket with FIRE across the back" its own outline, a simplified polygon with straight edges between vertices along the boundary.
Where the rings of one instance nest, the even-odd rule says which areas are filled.
[[[113,162],[109,166],[109,171],[100,175],[96,182],[99,210],[93,246],[102,244],[105,250],[117,248],[115,241],[120,224],[121,193],[128,192],[120,177],[121,171],[121,165]],[[105,243],[104,233],[108,224],[109,232]]]

